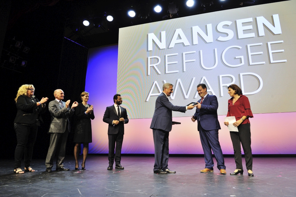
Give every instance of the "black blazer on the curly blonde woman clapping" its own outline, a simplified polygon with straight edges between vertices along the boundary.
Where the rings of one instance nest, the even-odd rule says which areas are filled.
[[[34,124],[36,119],[43,122],[40,112],[43,110],[42,106],[37,107],[36,102],[39,102],[37,98],[33,98],[35,102],[31,101],[26,95],[20,95],[17,97],[17,116],[13,123],[23,123],[23,124]]]

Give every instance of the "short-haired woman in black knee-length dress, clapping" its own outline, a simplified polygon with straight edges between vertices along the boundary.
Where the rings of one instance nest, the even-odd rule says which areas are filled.
[[[85,170],[85,160],[88,153],[88,145],[92,142],[92,125],[91,120],[94,119],[93,106],[87,104],[89,100],[89,93],[82,92],[80,94],[82,103],[79,103],[75,109],[75,115],[78,118],[74,132],[74,157],[75,157],[75,170],[79,170],[78,155],[81,143],[83,143],[83,161],[81,164],[82,170]]]

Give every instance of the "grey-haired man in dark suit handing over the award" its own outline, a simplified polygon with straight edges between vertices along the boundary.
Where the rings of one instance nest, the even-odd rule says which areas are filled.
[[[185,113],[186,110],[191,110],[194,106],[174,106],[169,102],[169,96],[173,93],[173,84],[165,83],[162,86],[162,93],[157,97],[155,102],[155,110],[150,125],[153,129],[154,139],[154,173],[167,174],[176,173],[168,168],[169,161],[169,132],[172,130],[172,111],[180,111]]]

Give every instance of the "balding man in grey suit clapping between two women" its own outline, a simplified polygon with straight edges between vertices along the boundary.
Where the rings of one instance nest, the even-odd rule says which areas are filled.
[[[66,142],[68,133],[70,132],[69,117],[73,115],[74,108],[78,106],[78,102],[74,102],[69,107],[70,100],[63,102],[64,92],[61,89],[54,91],[55,100],[49,102],[48,110],[51,114],[51,123],[49,128],[50,143],[45,160],[46,171],[51,172],[53,167],[53,158],[57,157],[56,170],[68,171],[69,168],[64,167],[64,158],[66,152]]]

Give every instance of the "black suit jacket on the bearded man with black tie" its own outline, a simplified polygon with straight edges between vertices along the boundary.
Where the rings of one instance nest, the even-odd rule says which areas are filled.
[[[105,111],[105,114],[103,117],[103,121],[109,124],[108,134],[117,134],[118,131],[120,131],[120,133],[124,134],[124,124],[128,123],[127,110],[121,106],[120,106],[120,110],[121,110],[120,117],[118,117],[114,105],[106,108],[106,111]],[[119,121],[119,118],[124,118],[124,123],[119,122],[118,125],[112,124],[113,120]]]

